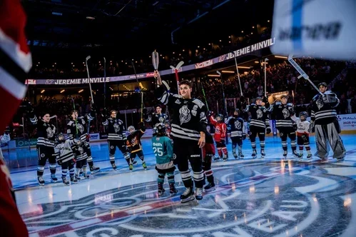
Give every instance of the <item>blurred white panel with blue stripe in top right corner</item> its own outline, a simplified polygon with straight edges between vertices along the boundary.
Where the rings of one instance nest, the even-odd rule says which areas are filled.
[[[355,0],[275,0],[273,54],[355,59]]]

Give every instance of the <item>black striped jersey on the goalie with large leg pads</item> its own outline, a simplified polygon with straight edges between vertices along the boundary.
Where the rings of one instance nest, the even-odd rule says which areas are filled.
[[[337,96],[332,91],[325,91],[324,94],[324,98],[320,94],[317,94],[312,99],[310,119],[315,121],[315,124],[332,123],[337,116],[335,108],[339,105],[339,99],[337,99]]]

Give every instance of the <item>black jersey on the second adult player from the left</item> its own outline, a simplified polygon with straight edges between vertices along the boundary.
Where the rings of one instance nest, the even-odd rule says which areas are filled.
[[[94,119],[93,111],[86,117],[79,117],[77,121],[71,120],[67,123],[67,135],[72,140],[79,138],[82,142],[86,142],[86,134],[88,133],[88,123]]]

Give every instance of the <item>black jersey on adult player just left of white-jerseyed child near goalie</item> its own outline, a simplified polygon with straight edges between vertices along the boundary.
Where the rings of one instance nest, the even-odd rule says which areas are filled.
[[[295,115],[295,108],[292,103],[282,104],[278,101],[267,109],[275,115],[275,127],[277,129],[293,129],[295,122],[290,117]]]

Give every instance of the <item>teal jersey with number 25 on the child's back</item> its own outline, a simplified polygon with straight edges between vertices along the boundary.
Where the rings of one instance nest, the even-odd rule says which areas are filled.
[[[173,146],[168,136],[153,136],[152,148],[156,156],[156,170],[158,172],[172,172],[176,169],[173,164]]]

